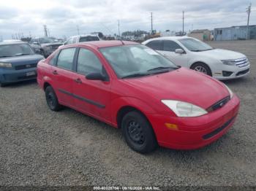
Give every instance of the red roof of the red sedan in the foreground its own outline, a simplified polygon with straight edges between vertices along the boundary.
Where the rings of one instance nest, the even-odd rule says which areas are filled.
[[[102,47],[117,47],[117,46],[122,46],[122,45],[133,45],[133,44],[139,44],[137,42],[129,42],[129,41],[118,41],[118,40],[113,40],[113,41],[89,41],[89,42],[80,42],[76,44],[70,44],[64,47],[78,47],[78,46],[89,46],[89,47],[94,47],[94,48],[102,48]]]

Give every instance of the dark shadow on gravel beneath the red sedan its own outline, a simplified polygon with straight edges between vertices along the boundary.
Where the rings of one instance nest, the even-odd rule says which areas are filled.
[[[121,130],[118,128],[113,128],[112,126],[101,122],[99,120],[94,119],[93,117],[90,117],[86,114],[82,114],[80,112],[77,112],[73,109],[69,109],[69,108],[65,108],[63,110],[61,110],[60,112],[70,112],[72,114],[75,114],[77,117],[83,117],[83,120],[88,121],[89,123],[91,123],[94,128],[91,129],[84,129],[83,127],[77,127],[76,130],[78,130],[79,133],[88,133],[91,132],[91,134],[95,134],[95,133],[99,133],[99,131],[104,130],[105,132],[102,132],[102,134],[104,136],[102,136],[102,141],[105,142],[105,144],[113,144],[113,145],[119,145],[119,148],[121,147],[121,149],[119,150],[115,150],[114,152],[120,152],[120,155],[122,155],[121,152],[127,152],[130,153],[128,155],[133,155],[136,152],[133,151],[132,149],[130,149],[127,144],[124,141],[123,136],[121,135]],[[222,149],[225,149],[224,146],[228,143],[225,144],[226,141],[228,141],[229,139],[229,133],[227,132],[227,134],[225,134],[224,136],[222,136],[221,138],[219,138],[217,141],[214,141],[213,143],[207,145],[206,147],[202,147],[200,149],[193,149],[193,150],[176,150],[176,149],[167,149],[165,147],[158,147],[154,152],[148,153],[148,154],[138,154],[138,155],[144,155],[145,157],[163,157],[163,158],[170,158],[172,157],[172,161],[173,160],[177,160],[181,161],[184,160],[183,162],[186,163],[186,160],[188,158],[192,158],[195,161],[198,160],[198,156],[202,156],[202,155],[207,155],[207,154],[211,154],[214,152],[222,152]],[[99,134],[97,135],[99,136]],[[109,140],[111,138],[111,140]],[[105,140],[104,140],[105,139]],[[105,147],[105,145],[103,145],[102,147]],[[103,149],[103,148],[102,148]],[[110,150],[108,152],[111,152]],[[137,155],[137,154],[136,154]],[[194,161],[194,162],[195,162]],[[171,163],[171,161],[170,161]]]

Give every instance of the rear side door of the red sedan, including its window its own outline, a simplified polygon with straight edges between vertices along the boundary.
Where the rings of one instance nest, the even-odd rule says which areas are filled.
[[[67,106],[74,105],[72,97],[72,80],[74,75],[74,58],[76,48],[67,48],[59,52],[56,56],[55,64],[51,68],[53,77],[53,88],[57,94],[59,102]]]

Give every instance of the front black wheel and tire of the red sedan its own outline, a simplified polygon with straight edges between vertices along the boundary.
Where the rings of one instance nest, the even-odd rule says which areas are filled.
[[[136,152],[153,152],[158,146],[151,124],[140,112],[125,114],[121,122],[121,130],[128,146]]]

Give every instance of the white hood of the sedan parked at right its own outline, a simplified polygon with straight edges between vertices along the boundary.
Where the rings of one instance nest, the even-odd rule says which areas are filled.
[[[234,52],[231,50],[224,50],[224,49],[213,49],[213,50],[206,50],[202,52],[195,52],[197,55],[204,55],[208,57],[213,57],[219,60],[229,60],[229,59],[238,59],[238,58],[244,58],[245,55]]]

